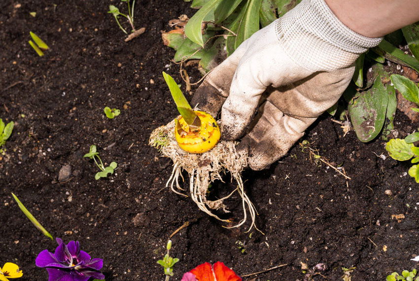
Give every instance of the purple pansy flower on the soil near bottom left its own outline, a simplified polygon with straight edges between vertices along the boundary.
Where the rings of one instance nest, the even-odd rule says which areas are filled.
[[[54,253],[43,250],[35,260],[37,267],[45,267],[48,271],[48,281],[87,281],[91,277],[105,279],[100,272],[102,259],[91,259],[88,253],[80,250],[78,241],[70,241],[66,245],[60,238],[56,240],[58,247]]]

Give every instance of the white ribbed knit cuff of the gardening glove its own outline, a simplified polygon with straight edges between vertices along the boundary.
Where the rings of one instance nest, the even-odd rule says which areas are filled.
[[[346,68],[383,39],[352,31],[324,0],[302,0],[277,21],[276,33],[285,52],[312,71]]]

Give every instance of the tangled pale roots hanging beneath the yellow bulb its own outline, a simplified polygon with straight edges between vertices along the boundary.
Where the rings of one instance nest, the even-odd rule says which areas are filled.
[[[200,154],[188,153],[182,150],[177,144],[175,138],[175,120],[173,120],[166,126],[155,129],[151,133],[149,144],[159,149],[163,156],[171,158],[174,162],[173,172],[166,183],[166,187],[170,184],[173,192],[187,197],[187,195],[180,193],[174,188],[174,185],[176,184],[177,189],[184,191],[180,187],[178,181],[179,177],[183,180],[181,172],[182,170],[185,170],[190,177],[189,193],[192,200],[198,205],[198,208],[210,216],[224,222],[230,221],[228,219],[219,218],[208,208],[212,210],[222,209],[225,212],[229,212],[226,210],[223,201],[237,191],[242,198],[244,217],[237,225],[227,228],[243,225],[249,214],[251,225],[248,231],[253,226],[257,229],[255,226],[257,212],[250,202],[250,199],[244,193],[243,180],[241,177],[242,171],[247,167],[247,155],[243,151],[236,150],[234,141],[221,140],[207,152]],[[226,174],[227,172],[231,173],[232,178],[237,181],[237,189],[224,198],[215,201],[207,200],[206,195],[210,183],[215,180],[222,181],[221,175]]]

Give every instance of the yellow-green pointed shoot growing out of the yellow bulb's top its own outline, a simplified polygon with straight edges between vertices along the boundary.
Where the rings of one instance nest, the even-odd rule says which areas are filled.
[[[172,76],[167,74],[163,71],[163,77],[166,81],[166,84],[169,86],[169,90],[172,94],[172,97],[177,105],[177,110],[179,111],[180,115],[182,115],[183,119],[188,125],[191,125],[195,118],[198,116],[193,112],[192,107],[189,105],[188,101],[186,100],[185,96],[182,94],[179,86],[175,82]],[[198,118],[199,119],[199,118]]]

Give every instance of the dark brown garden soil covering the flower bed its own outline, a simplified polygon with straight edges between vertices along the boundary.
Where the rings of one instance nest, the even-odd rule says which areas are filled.
[[[410,260],[419,254],[419,189],[407,175],[410,164],[389,158],[381,136],[370,143],[353,131],[344,137],[330,116],[319,118],[304,139],[351,179],[316,164],[298,144],[269,170],[246,171],[245,190],[265,235],[245,233],[249,224],[225,229],[190,198],[165,188],[172,163],[148,146],[148,138],[176,116],[162,70],[181,80],[160,31],[169,29],[170,19],[194,11],[181,0],[138,1],[136,27],[146,31],[127,43],[106,13],[112,1],[52,3],[0,4],[0,117],[15,122],[0,155],[0,266],[15,262],[24,272],[20,280],[45,281],[47,272],[36,268],[35,257],[56,246],[24,216],[11,192],[54,237],[78,240],[92,257],[103,258],[106,281],[163,280],[156,261],[187,221],[172,238],[171,255],[180,259],[173,280],[207,261],[222,261],[240,275],[287,264],[245,278],[260,281],[303,280],[300,262],[324,263],[321,274],[333,281],[341,280],[341,267],[356,267],[352,281],[383,281],[418,265]],[[34,11],[36,17],[29,14]],[[30,31],[50,46],[45,56],[28,44]],[[200,78],[198,71],[188,72],[192,81]],[[107,119],[105,106],[120,108],[121,115]],[[418,126],[397,112],[399,136]],[[83,158],[91,144],[106,163],[118,163],[114,175],[95,180],[98,168]],[[387,157],[376,156],[381,154]],[[70,178],[59,182],[65,165]],[[234,188],[219,183],[213,192],[221,196]],[[240,198],[226,203],[238,222]],[[397,221],[393,214],[405,218]]]

